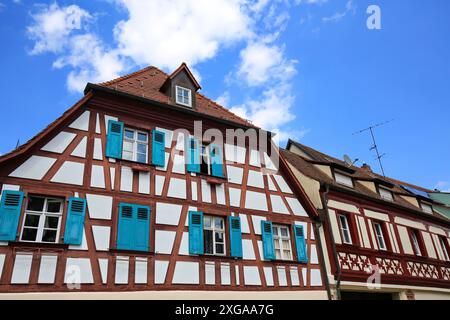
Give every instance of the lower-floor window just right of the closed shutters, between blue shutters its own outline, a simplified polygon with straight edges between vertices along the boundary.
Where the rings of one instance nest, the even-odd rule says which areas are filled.
[[[205,254],[225,255],[225,220],[221,217],[203,217]]]

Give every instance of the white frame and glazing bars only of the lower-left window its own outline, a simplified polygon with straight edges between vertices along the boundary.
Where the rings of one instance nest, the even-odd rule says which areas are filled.
[[[60,198],[53,198],[53,197],[45,197],[45,196],[29,196],[29,198],[41,198],[44,199],[44,206],[42,208],[42,211],[33,211],[28,210],[28,208],[25,209],[24,218],[22,222],[22,231],[20,233],[20,241],[21,242],[30,242],[30,243],[59,243],[59,233],[61,231],[61,221],[62,221],[62,214],[64,210],[64,200]],[[28,199],[29,201],[29,199]],[[47,212],[47,204],[49,201],[53,202],[59,202],[59,212]],[[28,207],[28,203],[27,203]],[[37,227],[28,227],[25,226],[27,215],[33,215],[33,216],[39,216],[39,223]],[[45,227],[45,220],[46,217],[57,217],[58,218],[58,227],[56,229],[56,241],[55,242],[48,242],[48,241],[42,241],[42,236],[44,234],[44,230],[55,230],[54,228],[46,228]],[[22,240],[23,233],[25,229],[37,229],[36,233],[36,240]]]

